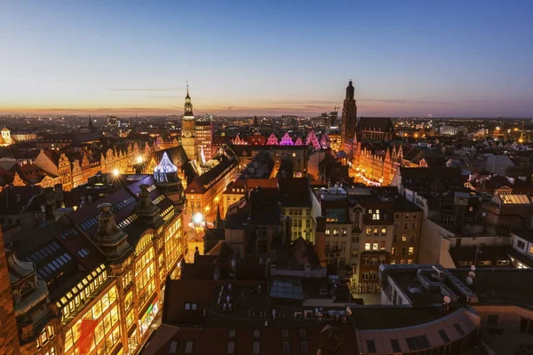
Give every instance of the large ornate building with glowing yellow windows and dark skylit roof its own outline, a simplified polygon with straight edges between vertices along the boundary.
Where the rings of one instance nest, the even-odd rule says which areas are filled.
[[[187,241],[179,205],[165,194],[179,184],[176,169],[132,177],[25,236],[39,235],[39,243],[22,260],[35,263],[62,313],[64,352],[56,354],[136,353],[161,310],[167,278],[179,277]]]

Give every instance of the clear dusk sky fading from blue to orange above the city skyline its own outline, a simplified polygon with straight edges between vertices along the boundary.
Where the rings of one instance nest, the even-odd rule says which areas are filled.
[[[508,3],[508,4],[507,4]],[[4,1],[0,114],[533,115],[532,1]]]

